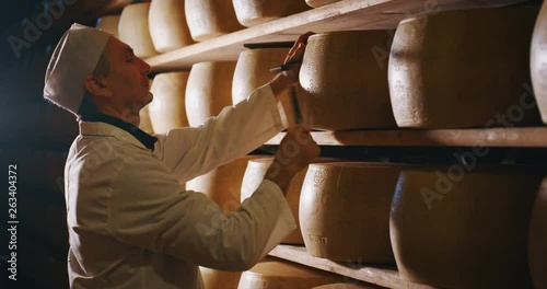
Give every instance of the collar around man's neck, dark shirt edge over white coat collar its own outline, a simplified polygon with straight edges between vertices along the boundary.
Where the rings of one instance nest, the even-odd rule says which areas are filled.
[[[104,114],[83,117],[80,122],[81,135],[113,136],[137,147],[154,150],[158,138],[119,118]]]

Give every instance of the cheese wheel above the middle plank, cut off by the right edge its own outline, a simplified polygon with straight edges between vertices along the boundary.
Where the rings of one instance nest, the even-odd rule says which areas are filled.
[[[547,3],[545,2],[536,20],[529,61],[534,93],[542,119],[547,124]]]

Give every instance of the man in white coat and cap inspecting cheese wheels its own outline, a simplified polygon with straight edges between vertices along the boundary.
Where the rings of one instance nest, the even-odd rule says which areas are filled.
[[[286,62],[300,60],[309,35]],[[79,24],[47,68],[45,99],[80,124],[65,169],[71,288],[201,288],[198,266],[248,269],[295,228],[283,192],[319,153],[300,126],[289,128],[265,180],[231,215],[179,185],[287,127],[279,101],[293,83],[286,72],[200,127],[150,136],[137,128],[153,99],[149,71],[127,44]]]

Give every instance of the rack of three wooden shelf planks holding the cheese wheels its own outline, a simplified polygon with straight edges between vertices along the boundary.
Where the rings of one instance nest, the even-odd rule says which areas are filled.
[[[493,8],[525,0],[344,0],[233,32],[146,59],[153,72],[188,70],[200,61],[235,61],[244,44],[294,42],[299,35],[349,30],[394,30],[400,20],[440,11]],[[387,44],[386,44],[387,46]],[[547,127],[313,131],[321,146],[547,148]],[[266,144],[279,144],[284,132]],[[271,256],[388,288],[432,288],[404,280],[394,267],[345,264],[309,255],[305,247],[279,245]]]

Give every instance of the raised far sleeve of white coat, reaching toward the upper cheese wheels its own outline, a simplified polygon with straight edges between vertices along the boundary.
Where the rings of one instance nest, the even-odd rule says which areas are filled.
[[[186,182],[249,153],[284,128],[283,108],[266,84],[199,127],[156,135],[154,155]]]

